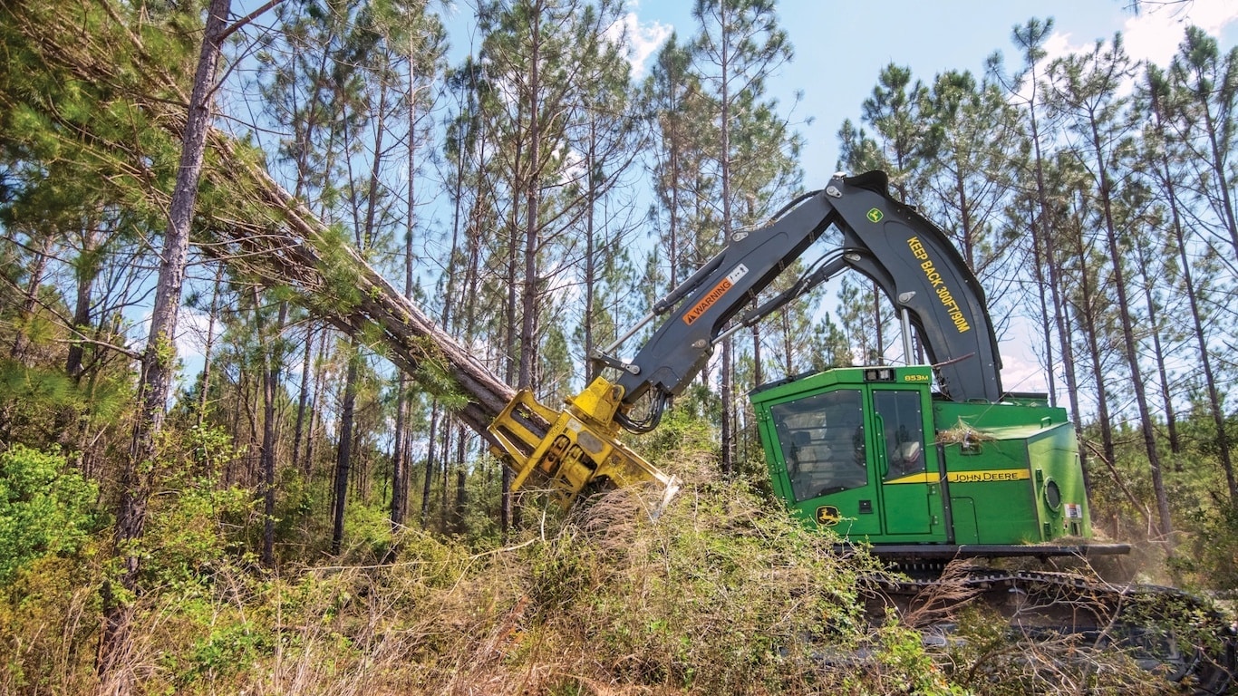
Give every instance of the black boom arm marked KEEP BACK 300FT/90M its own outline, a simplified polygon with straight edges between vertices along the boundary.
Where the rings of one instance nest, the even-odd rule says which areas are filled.
[[[864,274],[907,311],[945,394],[956,401],[998,401],[1002,362],[976,275],[941,228],[890,197],[884,172],[868,172],[836,176],[770,225],[733,233],[718,256],[659,302],[655,313],[670,316],[630,363],[599,357],[620,368],[615,384],[623,402],[630,406],[651,390],[657,399],[681,393],[728,322],[829,225],[842,230],[842,254],[802,279],[801,290],[846,268]],[[773,308],[766,303],[740,321],[754,323]]]

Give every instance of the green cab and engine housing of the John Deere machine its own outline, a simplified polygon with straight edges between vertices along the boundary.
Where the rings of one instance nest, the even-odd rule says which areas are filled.
[[[954,402],[931,384],[926,365],[874,367],[755,390],[775,494],[807,524],[874,545],[954,554],[1091,536],[1063,409],[1035,395]]]

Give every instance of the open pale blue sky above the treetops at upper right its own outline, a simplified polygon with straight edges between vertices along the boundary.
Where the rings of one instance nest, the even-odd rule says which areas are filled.
[[[681,37],[696,31],[692,0],[629,2],[629,30],[643,51],[652,52],[673,30]],[[1031,17],[1054,19],[1050,57],[1091,46],[1123,32],[1127,51],[1165,66],[1195,24],[1221,40],[1238,43],[1238,0],[1144,2],[1139,15],[1128,0],[790,0],[777,4],[779,24],[795,47],[795,59],[770,82],[771,95],[795,108],[807,140],[802,166],[805,186],[823,186],[838,159],[838,128],[859,120],[860,104],[888,63],[911,68],[925,82],[948,69],[980,74],[994,51],[1016,66],[1010,30]],[[640,57],[634,58],[636,71]]]

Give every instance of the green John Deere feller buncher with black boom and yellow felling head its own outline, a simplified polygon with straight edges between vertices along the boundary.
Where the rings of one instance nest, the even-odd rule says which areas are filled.
[[[831,228],[842,233],[841,248],[796,264]],[[754,307],[791,269],[800,270],[790,286]],[[786,507],[805,524],[834,530],[910,571],[880,583],[894,603],[931,589],[938,582],[931,573],[953,559],[1125,552],[1125,545],[1092,541],[1066,411],[1044,395],[1002,388],[979,282],[945,232],[889,194],[883,172],[836,175],[769,225],[733,232],[717,256],[591,357],[615,376],[594,379],[561,409],[516,393],[488,428],[514,469],[513,488],[546,490],[569,508],[594,490],[646,484],[665,502],[678,482],[623,445],[620,433],[657,427],[670,400],[727,336],[848,269],[881,289],[903,320],[905,354],[912,354],[914,331],[930,364],[837,368],[755,389],[750,400],[773,490]],[[615,355],[652,322],[634,358]],[[952,582],[1006,606],[1015,620],[1035,617],[1107,639],[1114,617],[1139,604],[1138,597],[1190,602],[1167,588],[1109,586],[1066,572],[987,567],[956,573]],[[1086,618],[1078,611],[1083,597],[1092,607]],[[1018,606],[1009,606],[1011,598]],[[1071,607],[1071,616],[1055,616],[1055,606]],[[1200,691],[1232,685],[1227,637],[1219,649],[1196,655],[1158,650],[1156,661],[1170,665],[1174,679]]]

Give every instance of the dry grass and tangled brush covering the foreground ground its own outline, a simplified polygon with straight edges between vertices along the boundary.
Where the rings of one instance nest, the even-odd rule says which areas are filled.
[[[254,696],[1014,694],[1109,682],[1138,692],[1158,684],[1077,637],[1032,640],[1011,635],[1002,617],[959,612],[969,594],[948,583],[899,620],[869,625],[859,591],[872,561],[837,556],[831,539],[742,484],[686,489],[656,519],[638,490],[607,494],[566,520],[531,513],[535,524],[504,547],[407,531],[389,565],[202,568],[134,604],[125,679],[136,694]],[[0,604],[10,608],[0,627],[5,694],[116,686],[93,675],[92,583],[102,571],[66,572],[26,581],[37,613],[14,611],[15,596]],[[80,589],[51,591],[73,583]],[[943,620],[957,632],[926,646],[914,627]]]

